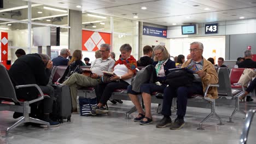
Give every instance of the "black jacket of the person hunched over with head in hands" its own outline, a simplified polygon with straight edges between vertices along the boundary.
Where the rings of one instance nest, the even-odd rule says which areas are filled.
[[[14,86],[37,84],[46,86],[49,82],[50,70],[45,68],[42,58],[37,54],[28,54],[18,58],[11,65],[8,74]],[[37,97],[38,91],[34,87],[16,89],[18,98],[31,100]]]

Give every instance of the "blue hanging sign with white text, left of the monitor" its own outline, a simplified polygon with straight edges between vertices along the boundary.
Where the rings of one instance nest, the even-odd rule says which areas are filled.
[[[143,35],[166,38],[167,29],[143,26]]]

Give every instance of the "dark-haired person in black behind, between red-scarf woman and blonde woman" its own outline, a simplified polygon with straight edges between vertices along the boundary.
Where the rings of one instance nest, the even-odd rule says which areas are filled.
[[[153,49],[151,46],[146,45],[143,47],[143,55],[139,60],[137,61],[137,66],[138,67],[146,67],[149,64],[153,64],[153,59],[152,57]]]

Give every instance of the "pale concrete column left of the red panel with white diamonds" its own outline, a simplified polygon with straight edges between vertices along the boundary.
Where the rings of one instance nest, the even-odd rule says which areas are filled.
[[[68,16],[69,50],[82,50],[82,11],[70,10]]]

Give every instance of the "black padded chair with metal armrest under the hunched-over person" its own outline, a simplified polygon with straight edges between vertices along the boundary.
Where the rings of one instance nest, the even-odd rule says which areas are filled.
[[[16,86],[15,88],[22,88],[22,87],[36,87],[40,93],[39,97],[37,99],[26,101],[24,99],[18,99],[16,97],[15,89],[13,87],[13,83],[11,83],[10,77],[7,73],[7,70],[3,65],[0,64],[0,111],[14,111],[14,112],[21,112],[23,113],[23,116],[21,119],[19,119],[18,122],[11,125],[11,127],[7,128],[5,136],[8,136],[9,131],[18,127],[22,123],[26,122],[32,122],[32,123],[39,123],[39,124],[45,124],[48,125],[48,128],[50,127],[50,124],[48,122],[42,121],[40,119],[32,118],[29,116],[29,113],[31,112],[30,104],[35,103],[39,100],[44,99],[44,97],[49,97],[48,95],[43,94],[40,87],[36,84],[31,85],[20,85]],[[8,101],[6,103],[5,101]],[[13,103],[9,103],[13,102]],[[15,105],[15,104],[16,105]]]

